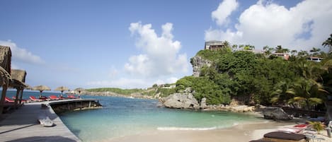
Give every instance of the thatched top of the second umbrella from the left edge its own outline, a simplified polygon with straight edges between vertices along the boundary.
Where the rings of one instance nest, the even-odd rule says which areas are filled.
[[[27,85],[25,84],[25,76],[26,71],[19,69],[11,69],[11,81],[10,86],[12,88],[25,88]]]

